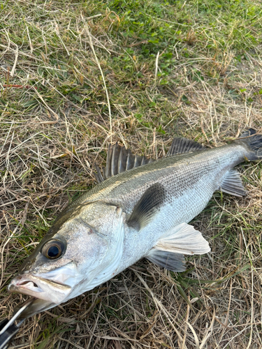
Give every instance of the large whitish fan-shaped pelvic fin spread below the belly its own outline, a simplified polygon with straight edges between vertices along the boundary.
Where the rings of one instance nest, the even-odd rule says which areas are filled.
[[[182,223],[168,231],[154,246],[157,250],[184,255],[202,255],[210,251],[208,242],[192,225]]]

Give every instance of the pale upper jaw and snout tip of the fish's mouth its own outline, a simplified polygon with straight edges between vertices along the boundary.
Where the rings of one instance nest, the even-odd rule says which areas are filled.
[[[15,276],[8,286],[10,292],[19,292],[42,299],[44,301],[60,304],[71,293],[71,286],[58,281],[44,279],[40,276],[22,274]]]

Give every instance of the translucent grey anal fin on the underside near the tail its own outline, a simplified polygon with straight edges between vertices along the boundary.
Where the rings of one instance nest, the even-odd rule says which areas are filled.
[[[240,178],[240,174],[237,170],[230,170],[224,177],[219,189],[224,191],[224,193],[228,193],[235,196],[245,196],[247,192],[242,185],[242,181]]]

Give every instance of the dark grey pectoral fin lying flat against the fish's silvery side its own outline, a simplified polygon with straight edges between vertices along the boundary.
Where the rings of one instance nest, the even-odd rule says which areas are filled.
[[[154,215],[157,214],[165,199],[165,188],[159,183],[152,184],[143,193],[142,198],[140,198],[133,208],[133,212],[126,223],[136,230],[144,228],[154,218]]]

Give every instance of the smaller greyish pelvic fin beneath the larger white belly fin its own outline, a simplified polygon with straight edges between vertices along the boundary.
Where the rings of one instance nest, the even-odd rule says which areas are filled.
[[[156,248],[152,248],[152,250],[145,255],[145,258],[159,267],[171,270],[172,272],[184,272],[186,270],[184,267],[184,255],[180,253],[160,251]]]

